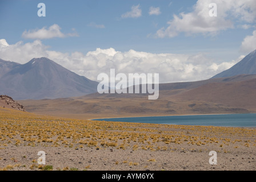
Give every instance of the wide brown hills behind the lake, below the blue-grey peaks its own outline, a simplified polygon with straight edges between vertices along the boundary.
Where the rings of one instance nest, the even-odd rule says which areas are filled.
[[[147,94],[89,94],[21,101],[28,111],[68,118],[136,117],[256,112],[256,75],[159,85],[158,100]]]

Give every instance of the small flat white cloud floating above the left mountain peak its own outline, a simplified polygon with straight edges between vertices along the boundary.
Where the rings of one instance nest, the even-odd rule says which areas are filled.
[[[74,29],[73,29],[74,31]],[[63,34],[61,27],[58,24],[53,24],[49,28],[43,27],[41,29],[24,31],[22,37],[26,39],[51,39],[51,38],[65,38],[67,36],[78,36],[77,33]]]

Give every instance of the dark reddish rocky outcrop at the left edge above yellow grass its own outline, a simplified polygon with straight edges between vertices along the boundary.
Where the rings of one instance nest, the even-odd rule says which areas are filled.
[[[0,95],[0,107],[26,111],[25,107],[9,96]]]

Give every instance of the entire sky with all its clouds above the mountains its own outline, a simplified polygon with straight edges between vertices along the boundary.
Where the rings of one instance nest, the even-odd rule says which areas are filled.
[[[255,0],[1,0],[0,59],[48,57],[95,81],[110,69],[205,80],[256,49],[255,22]]]

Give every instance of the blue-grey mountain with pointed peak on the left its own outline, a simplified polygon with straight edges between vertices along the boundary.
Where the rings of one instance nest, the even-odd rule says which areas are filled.
[[[0,93],[15,100],[63,98],[97,92],[98,82],[41,57],[16,65],[0,78]]]

